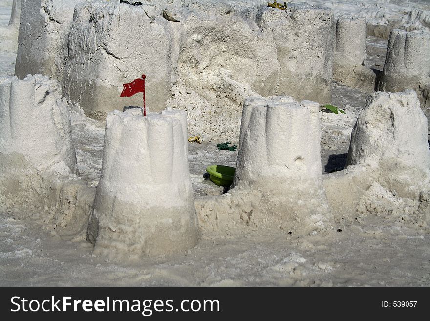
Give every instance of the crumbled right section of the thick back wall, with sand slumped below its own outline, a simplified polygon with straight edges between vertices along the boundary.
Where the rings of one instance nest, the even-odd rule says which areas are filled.
[[[181,37],[167,105],[188,112],[191,134],[238,137],[247,97],[331,100],[331,10],[225,1],[215,7],[196,2],[172,14],[181,20]]]

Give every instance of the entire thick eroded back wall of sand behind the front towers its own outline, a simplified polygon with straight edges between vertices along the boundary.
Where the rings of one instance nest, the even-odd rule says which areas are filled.
[[[331,100],[331,9],[244,0],[78,2],[23,4],[28,23],[20,28],[16,75],[60,80],[90,117],[141,106],[140,95],[119,94],[142,74],[148,108],[186,110],[190,133],[205,137],[237,136],[249,96]]]

